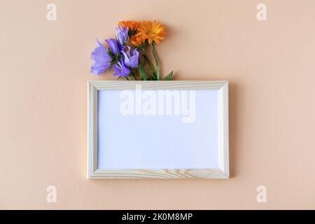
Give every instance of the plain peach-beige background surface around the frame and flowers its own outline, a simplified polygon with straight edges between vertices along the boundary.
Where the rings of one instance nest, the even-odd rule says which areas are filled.
[[[85,179],[86,81],[114,79],[90,52],[123,19],[167,25],[176,80],[230,81],[230,180]],[[315,209],[314,27],[314,0],[1,0],[0,209]]]

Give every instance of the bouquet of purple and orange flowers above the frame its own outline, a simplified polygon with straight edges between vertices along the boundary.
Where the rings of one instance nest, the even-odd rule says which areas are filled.
[[[171,80],[173,71],[164,78],[155,44],[165,39],[165,26],[154,21],[121,21],[116,38],[106,39],[108,48],[97,40],[91,53],[91,73],[99,75],[113,69],[113,76],[130,80]],[[155,64],[148,52],[152,52]]]

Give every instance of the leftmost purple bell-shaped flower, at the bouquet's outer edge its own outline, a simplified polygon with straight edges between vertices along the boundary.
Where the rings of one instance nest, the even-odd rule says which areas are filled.
[[[97,40],[97,47],[91,53],[91,73],[99,75],[111,66],[111,56],[107,48]]]

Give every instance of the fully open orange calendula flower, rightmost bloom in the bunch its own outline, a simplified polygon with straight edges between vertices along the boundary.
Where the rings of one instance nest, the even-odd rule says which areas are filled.
[[[136,37],[140,41],[148,40],[148,43],[160,44],[160,41],[165,39],[165,26],[159,22],[144,20],[140,22]]]

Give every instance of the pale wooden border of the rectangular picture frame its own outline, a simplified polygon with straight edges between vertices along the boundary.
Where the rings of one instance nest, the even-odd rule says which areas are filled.
[[[97,91],[133,90],[219,90],[220,169],[98,169]],[[229,179],[228,81],[108,81],[87,82],[87,179]]]

